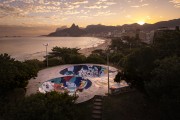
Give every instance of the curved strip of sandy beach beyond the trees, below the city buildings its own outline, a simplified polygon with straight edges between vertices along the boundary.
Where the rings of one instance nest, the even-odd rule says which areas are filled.
[[[90,47],[90,48],[80,49],[80,50],[79,50],[79,53],[81,53],[82,55],[84,55],[84,56],[87,57],[87,56],[89,56],[89,55],[92,53],[92,51],[98,50],[98,49],[106,50],[107,47],[108,47],[109,45],[111,45],[111,39],[110,39],[110,38],[100,38],[100,39],[103,39],[103,40],[104,40],[104,43],[99,44],[99,45],[96,46],[96,47]]]

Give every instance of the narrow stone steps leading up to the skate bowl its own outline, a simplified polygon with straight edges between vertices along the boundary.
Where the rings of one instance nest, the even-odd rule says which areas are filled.
[[[93,100],[92,120],[102,120],[103,96],[96,95]]]

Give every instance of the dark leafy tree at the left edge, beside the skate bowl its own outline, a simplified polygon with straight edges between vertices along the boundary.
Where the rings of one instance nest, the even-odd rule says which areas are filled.
[[[28,80],[37,76],[39,67],[33,61],[15,61],[8,54],[0,55],[0,94],[14,88],[24,88]]]

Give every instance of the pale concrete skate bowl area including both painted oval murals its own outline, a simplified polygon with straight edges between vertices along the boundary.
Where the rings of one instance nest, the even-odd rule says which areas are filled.
[[[109,67],[109,84],[114,84],[117,69]],[[77,103],[85,102],[94,95],[108,92],[108,66],[97,64],[61,65],[40,70],[30,79],[26,95],[50,91],[68,92],[78,96]]]

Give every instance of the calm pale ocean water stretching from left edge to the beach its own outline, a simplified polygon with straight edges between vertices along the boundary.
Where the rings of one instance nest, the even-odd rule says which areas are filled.
[[[29,59],[43,60],[48,52],[55,46],[69,48],[96,47],[104,43],[103,39],[94,37],[2,37],[0,38],[0,54],[8,53],[16,60]]]

